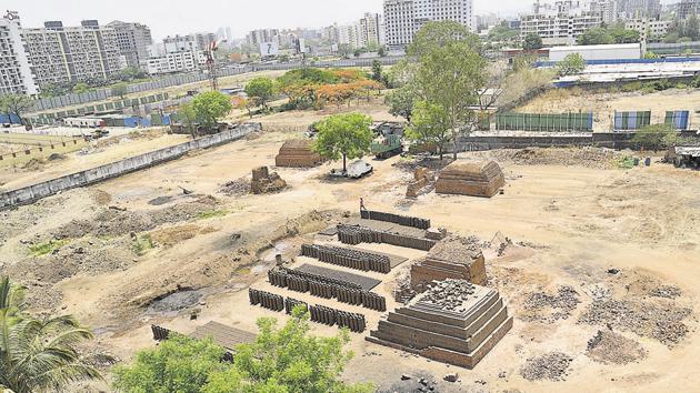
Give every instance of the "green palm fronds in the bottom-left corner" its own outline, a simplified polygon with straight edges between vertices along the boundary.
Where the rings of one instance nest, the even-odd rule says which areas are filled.
[[[28,315],[23,300],[23,288],[0,279],[0,390],[63,391],[74,382],[101,379],[76,350],[92,334],[72,316]]]

